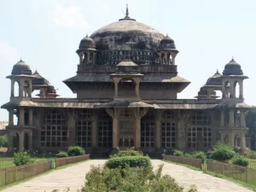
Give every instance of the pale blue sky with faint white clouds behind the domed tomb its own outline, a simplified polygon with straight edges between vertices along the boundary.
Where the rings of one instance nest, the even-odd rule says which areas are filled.
[[[256,104],[255,0],[0,0],[0,104],[9,102],[10,80],[5,79],[22,57],[55,86],[61,97],[76,97],[62,82],[76,74],[75,51],[82,38],[102,26],[130,16],[175,40],[178,75],[191,84],[178,98],[193,98],[232,56],[249,79],[245,102]],[[0,109],[0,120],[8,113]]]

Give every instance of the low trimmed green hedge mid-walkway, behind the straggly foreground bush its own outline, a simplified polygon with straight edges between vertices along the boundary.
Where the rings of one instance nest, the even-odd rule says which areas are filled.
[[[115,169],[125,167],[150,167],[152,165],[147,156],[125,156],[108,160],[106,166],[110,169]]]

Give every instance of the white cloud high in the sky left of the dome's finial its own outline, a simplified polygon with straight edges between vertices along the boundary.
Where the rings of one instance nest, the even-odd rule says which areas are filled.
[[[82,8],[73,7],[55,7],[54,22],[57,26],[69,28],[90,28],[90,24],[84,19]]]

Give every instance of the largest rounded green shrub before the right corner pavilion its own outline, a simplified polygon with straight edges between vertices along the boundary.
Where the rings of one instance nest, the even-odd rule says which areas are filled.
[[[226,145],[224,143],[217,143],[212,148],[212,153],[210,157],[213,160],[226,161],[231,160],[236,155],[234,148],[230,145]]]

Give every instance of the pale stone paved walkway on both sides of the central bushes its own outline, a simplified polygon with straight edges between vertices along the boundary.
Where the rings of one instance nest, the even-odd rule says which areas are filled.
[[[3,189],[3,192],[51,192],[53,189],[66,189],[69,187],[71,192],[76,192],[84,185],[85,173],[90,170],[90,165],[103,164],[105,160],[89,160],[55,172],[34,177],[24,183]],[[162,160],[152,160],[156,168],[160,164],[165,164],[163,173],[170,174],[185,188],[191,184],[197,185],[199,192],[252,192],[253,190],[241,187],[236,183],[212,177],[203,172],[191,170],[185,166],[177,166],[166,163]]]

